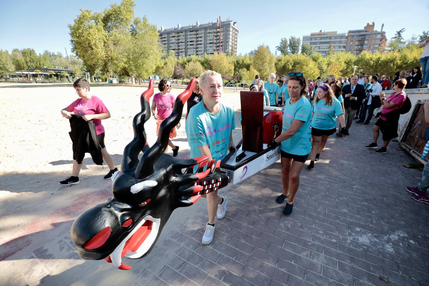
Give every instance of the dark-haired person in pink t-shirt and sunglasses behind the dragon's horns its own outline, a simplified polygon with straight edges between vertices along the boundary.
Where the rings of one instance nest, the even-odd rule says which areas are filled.
[[[157,120],[157,136],[158,136],[158,130],[160,128],[161,122],[163,122],[164,119],[170,116],[170,114],[173,112],[173,106],[174,102],[176,100],[176,97],[169,93],[171,88],[170,82],[163,78],[160,80],[160,83],[158,84],[158,90],[160,93],[157,93],[154,95],[154,99],[152,99],[152,115]],[[155,113],[155,109],[157,113]],[[176,128],[180,128],[180,123],[177,124]],[[173,128],[170,132],[170,139],[175,138],[177,135],[176,129]],[[179,146],[175,146],[171,140],[168,140],[168,145],[173,150],[173,157],[176,157],[179,151]],[[167,153],[168,150],[165,149],[164,153]]]

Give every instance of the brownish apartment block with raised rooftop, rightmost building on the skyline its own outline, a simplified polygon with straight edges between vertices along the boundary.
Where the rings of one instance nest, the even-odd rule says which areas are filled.
[[[375,53],[379,48],[386,46],[386,32],[374,30],[374,22],[366,23],[363,30],[349,30],[347,33],[346,51],[352,54],[360,54],[362,51]]]

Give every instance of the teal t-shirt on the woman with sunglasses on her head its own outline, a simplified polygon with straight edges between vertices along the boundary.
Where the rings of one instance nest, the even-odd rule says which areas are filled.
[[[285,132],[293,120],[304,121],[304,124],[289,139],[281,141],[281,150],[293,155],[307,155],[311,151],[311,104],[301,96],[294,104],[286,101],[283,112],[283,129]]]

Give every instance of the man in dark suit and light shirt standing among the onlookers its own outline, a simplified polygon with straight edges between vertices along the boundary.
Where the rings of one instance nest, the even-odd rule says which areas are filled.
[[[344,116],[346,119],[346,135],[349,135],[348,129],[353,122],[353,118],[356,115],[357,110],[362,104],[362,100],[365,99],[365,87],[362,84],[357,83],[357,75],[353,75],[350,84],[343,87],[344,97]]]

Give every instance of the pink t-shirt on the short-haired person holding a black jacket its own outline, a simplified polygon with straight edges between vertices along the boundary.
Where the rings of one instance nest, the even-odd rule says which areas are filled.
[[[106,105],[99,99],[97,96],[91,96],[90,99],[84,100],[78,98],[73,101],[67,110],[73,112],[74,114],[86,115],[86,114],[100,114],[104,112],[109,112]],[[93,119],[95,124],[95,131],[97,135],[104,133],[104,127],[101,124],[101,119]]]

